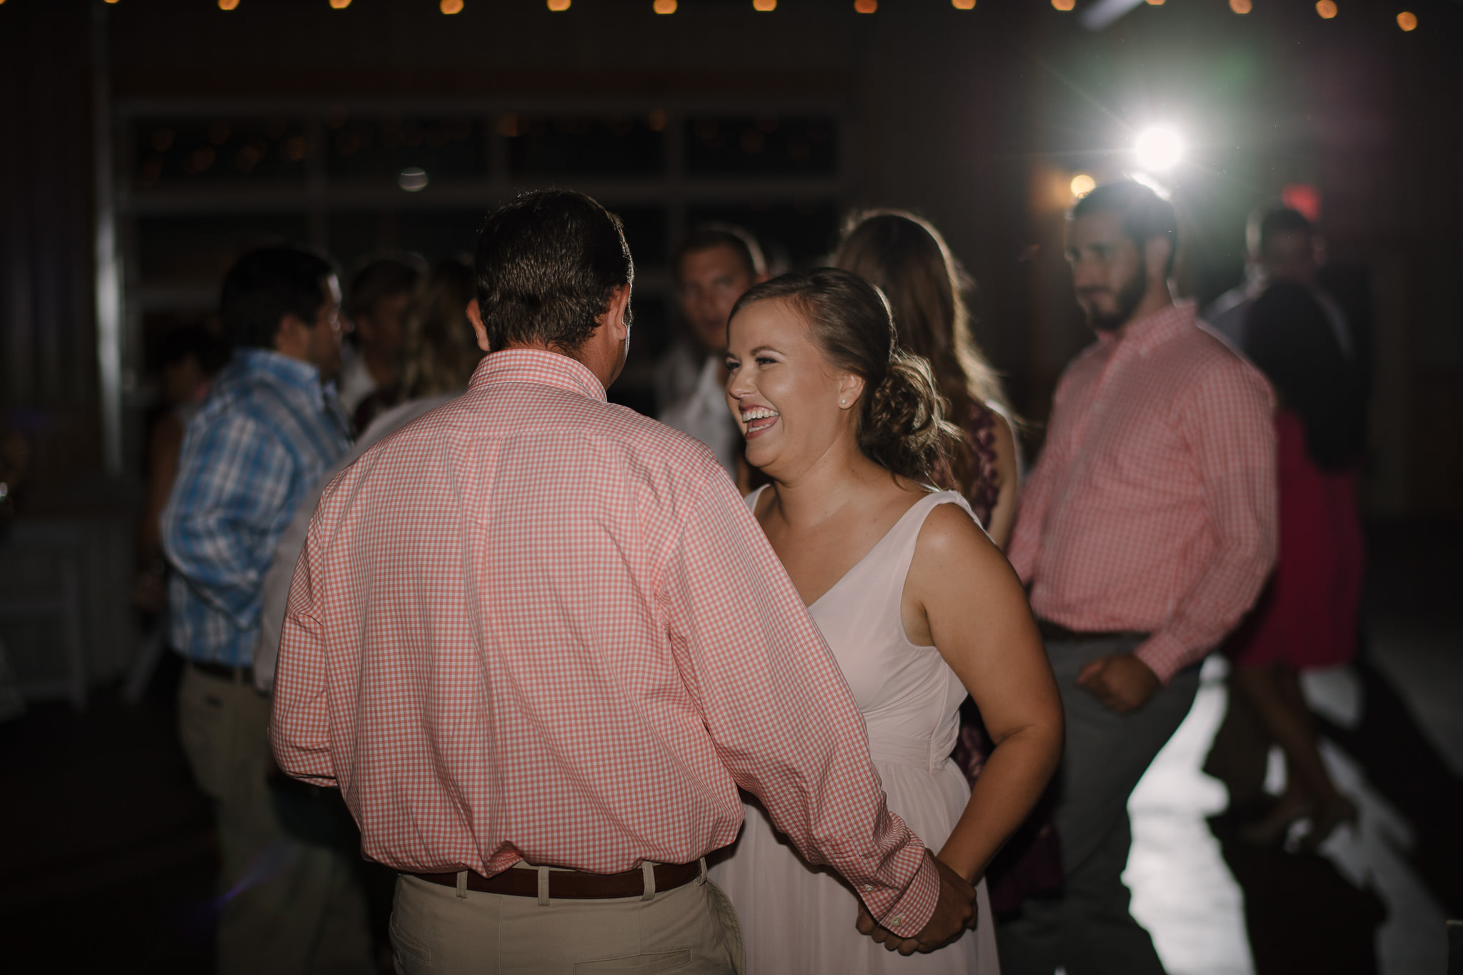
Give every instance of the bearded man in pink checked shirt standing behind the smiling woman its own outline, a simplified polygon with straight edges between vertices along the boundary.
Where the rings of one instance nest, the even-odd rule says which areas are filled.
[[[1176,244],[1173,206],[1138,183],[1097,187],[1068,224],[1097,342],[1056,386],[1011,541],[1067,715],[1065,889],[999,928],[1007,975],[1162,975],[1122,883],[1128,795],[1274,561],[1274,399],[1172,300]]]

